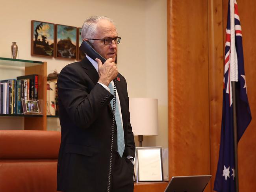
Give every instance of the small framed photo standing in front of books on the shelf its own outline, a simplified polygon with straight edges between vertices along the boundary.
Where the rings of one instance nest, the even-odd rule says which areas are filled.
[[[22,99],[23,114],[41,114],[41,107],[39,100],[25,100]]]

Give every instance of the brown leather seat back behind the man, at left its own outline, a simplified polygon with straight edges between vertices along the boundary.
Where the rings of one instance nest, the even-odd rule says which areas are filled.
[[[0,192],[56,192],[60,132],[0,130]]]

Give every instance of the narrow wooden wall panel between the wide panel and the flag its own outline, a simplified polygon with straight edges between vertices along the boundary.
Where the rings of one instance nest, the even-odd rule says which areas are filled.
[[[211,190],[219,159],[223,100],[223,6],[222,0],[208,0],[209,25],[209,96],[210,96],[210,151]]]

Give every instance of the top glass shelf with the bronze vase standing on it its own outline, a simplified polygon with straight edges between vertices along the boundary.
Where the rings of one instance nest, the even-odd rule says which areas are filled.
[[[43,65],[43,62],[42,61],[30,61],[30,60],[24,60],[24,59],[11,59],[11,58],[0,57],[0,65],[27,67],[27,66]]]

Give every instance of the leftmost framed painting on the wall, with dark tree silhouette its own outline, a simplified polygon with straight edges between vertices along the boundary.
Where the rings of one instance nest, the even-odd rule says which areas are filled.
[[[54,24],[31,21],[31,55],[54,56]]]

